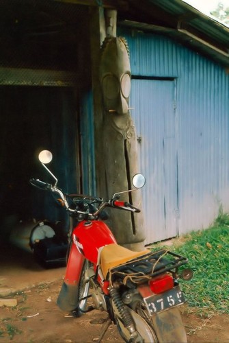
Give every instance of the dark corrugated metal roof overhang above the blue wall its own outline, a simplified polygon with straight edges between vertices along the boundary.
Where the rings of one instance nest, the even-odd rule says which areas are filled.
[[[130,0],[129,6],[131,13],[122,13],[118,25],[170,36],[229,67],[229,28],[225,25],[181,0],[143,0],[138,4]]]

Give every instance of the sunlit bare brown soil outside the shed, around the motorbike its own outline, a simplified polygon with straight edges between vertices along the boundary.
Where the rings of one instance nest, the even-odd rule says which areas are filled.
[[[0,307],[0,343],[2,342],[98,342],[107,324],[107,314],[92,311],[72,318],[56,305],[62,281],[40,284],[8,296],[16,298],[16,307]],[[200,318],[185,305],[182,316],[188,342],[229,342],[229,316]],[[122,342],[110,324],[101,342]]]

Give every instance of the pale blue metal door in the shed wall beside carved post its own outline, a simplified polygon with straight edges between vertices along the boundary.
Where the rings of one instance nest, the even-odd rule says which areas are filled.
[[[145,222],[147,228],[153,224],[155,229],[148,235],[155,238],[156,234],[157,240],[178,233],[175,89],[176,80],[132,80],[140,170],[147,180],[143,189]],[[147,94],[150,96],[142,101]]]

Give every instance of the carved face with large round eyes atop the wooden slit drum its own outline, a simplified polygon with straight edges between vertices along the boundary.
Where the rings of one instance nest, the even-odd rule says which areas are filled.
[[[126,40],[105,38],[100,62],[100,82],[105,109],[109,113],[126,115],[131,93],[131,65]]]

